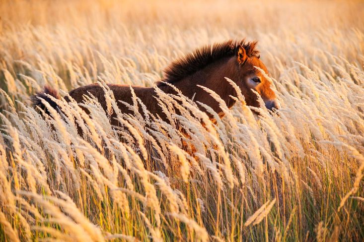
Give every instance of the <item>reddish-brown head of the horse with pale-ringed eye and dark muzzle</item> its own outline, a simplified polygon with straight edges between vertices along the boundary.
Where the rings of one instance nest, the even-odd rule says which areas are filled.
[[[260,69],[269,76],[267,67],[260,60],[259,52],[255,50],[257,42],[238,45],[235,56],[232,59],[236,68],[236,84],[240,87],[248,106],[259,107],[255,90],[262,97],[265,106],[269,110],[279,109],[280,104],[276,94],[271,89],[271,82],[264,76]],[[256,68],[259,67],[259,68]]]

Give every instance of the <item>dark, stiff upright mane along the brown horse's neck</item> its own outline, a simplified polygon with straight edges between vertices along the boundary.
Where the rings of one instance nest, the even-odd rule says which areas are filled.
[[[179,81],[216,60],[232,57],[235,55],[238,46],[243,46],[248,57],[255,56],[259,58],[259,51],[255,49],[257,43],[257,41],[245,42],[245,39],[240,42],[228,40],[199,48],[170,63],[164,69],[162,81],[157,82],[157,85],[163,85],[163,82],[173,83]]]

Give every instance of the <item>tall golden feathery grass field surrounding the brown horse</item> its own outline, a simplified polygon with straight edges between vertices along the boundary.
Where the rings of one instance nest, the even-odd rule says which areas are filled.
[[[364,240],[363,2],[0,0],[0,16],[0,241]],[[279,116],[241,103],[215,125],[160,93],[187,140],[137,100],[119,128],[92,99],[89,117],[31,107],[45,84],[151,86],[171,60],[244,37]]]

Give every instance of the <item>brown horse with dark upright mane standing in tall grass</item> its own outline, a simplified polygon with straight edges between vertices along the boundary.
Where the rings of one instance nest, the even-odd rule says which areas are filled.
[[[269,110],[278,109],[279,103],[270,87],[270,81],[264,77],[260,70],[255,68],[255,66],[259,67],[268,74],[266,66],[259,59],[259,51],[256,50],[256,45],[257,42],[245,42],[245,40],[233,42],[229,40],[197,49],[193,53],[187,54],[185,57],[175,60],[167,66],[164,70],[163,78],[157,82],[157,87],[165,93],[175,93],[172,87],[165,84],[165,82],[171,83],[183,95],[210,106],[222,117],[223,112],[219,108],[218,102],[197,85],[205,86],[215,91],[226,102],[226,105],[231,108],[235,101],[230,98],[230,95],[236,96],[236,92],[224,79],[224,77],[227,77],[240,87],[247,105],[253,107],[259,106],[257,96],[251,90],[253,89],[259,93]],[[116,100],[122,100],[130,104],[133,103],[130,86],[114,84],[109,84],[108,86],[114,93]],[[133,86],[133,89],[150,113],[157,114],[162,119],[166,119],[166,116],[154,98],[156,96],[154,88]],[[54,109],[58,110],[57,104],[45,94],[60,98],[56,90],[46,87],[43,92],[33,96],[33,105],[48,113],[45,105],[40,100],[42,98]],[[77,103],[82,103],[84,95],[92,94],[98,99],[102,107],[105,110],[107,109],[104,91],[98,84],[90,84],[76,88],[69,94]],[[121,112],[131,112],[124,104],[118,102],[118,105]],[[202,107],[201,110],[206,112]],[[209,116],[212,118],[210,114]],[[111,122],[117,125],[116,120],[112,119]]]

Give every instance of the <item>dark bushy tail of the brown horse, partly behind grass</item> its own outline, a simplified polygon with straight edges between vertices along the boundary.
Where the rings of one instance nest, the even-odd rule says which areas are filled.
[[[46,114],[49,115],[50,113],[49,113],[46,105],[44,105],[44,103],[42,102],[42,99],[43,99],[44,101],[49,103],[49,105],[53,109],[55,109],[57,112],[60,112],[60,108],[59,108],[58,104],[55,101],[53,101],[52,98],[50,98],[49,96],[52,96],[55,99],[61,99],[61,96],[56,89],[54,89],[50,86],[45,86],[43,91],[40,91],[31,97],[33,107],[39,108],[40,110],[43,110]]]

